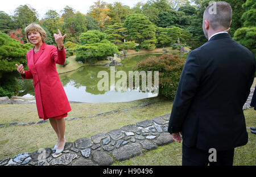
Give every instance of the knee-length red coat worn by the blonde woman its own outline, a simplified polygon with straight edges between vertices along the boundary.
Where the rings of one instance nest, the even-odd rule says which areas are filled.
[[[34,48],[27,52],[28,71],[23,79],[33,79],[39,118],[48,119],[71,111],[67,95],[60,82],[56,64],[64,65],[65,50],[42,44],[34,61]]]

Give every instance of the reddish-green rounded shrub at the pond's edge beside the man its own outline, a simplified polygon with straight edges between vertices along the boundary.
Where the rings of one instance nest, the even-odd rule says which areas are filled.
[[[139,62],[135,69],[138,71],[159,71],[158,95],[174,100],[184,64],[185,59],[178,55],[162,55]]]

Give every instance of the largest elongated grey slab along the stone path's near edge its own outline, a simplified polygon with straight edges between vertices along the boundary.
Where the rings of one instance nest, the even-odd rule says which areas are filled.
[[[141,145],[139,145],[138,143],[127,144],[125,146],[120,147],[119,149],[113,150],[113,156],[118,161],[124,161],[126,159],[130,159],[141,154]]]

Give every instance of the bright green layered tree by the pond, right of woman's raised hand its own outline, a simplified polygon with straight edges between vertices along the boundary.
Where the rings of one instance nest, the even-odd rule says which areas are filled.
[[[106,34],[100,31],[87,31],[80,35],[81,44],[76,48],[76,60],[94,63],[105,60],[107,56],[119,54],[117,46],[106,39]]]

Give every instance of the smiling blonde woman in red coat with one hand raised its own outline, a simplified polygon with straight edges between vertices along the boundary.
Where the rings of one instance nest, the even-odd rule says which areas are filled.
[[[59,34],[54,33],[54,45],[46,45],[46,31],[36,23],[25,28],[27,40],[34,44],[34,48],[27,52],[28,71],[23,65],[17,65],[18,72],[23,79],[33,79],[35,88],[36,107],[40,119],[49,119],[52,128],[58,136],[58,142],[53,147],[55,153],[63,151],[65,145],[65,120],[68,112],[71,111],[67,95],[57,74],[56,64],[64,65],[65,50],[60,30]]]

